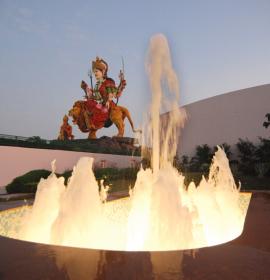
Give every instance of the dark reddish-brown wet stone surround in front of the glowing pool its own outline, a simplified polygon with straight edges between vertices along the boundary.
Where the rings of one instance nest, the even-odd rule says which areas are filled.
[[[11,215],[14,210],[1,215]],[[58,280],[269,279],[269,215],[270,193],[254,192],[242,235],[231,242],[197,250],[121,252],[44,245],[0,236],[0,275],[3,279]]]

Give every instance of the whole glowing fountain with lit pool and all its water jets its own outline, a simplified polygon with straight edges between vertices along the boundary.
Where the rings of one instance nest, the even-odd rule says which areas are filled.
[[[33,207],[17,209],[0,234],[118,251],[194,249],[241,234],[250,195],[240,194],[220,147],[208,179],[202,178],[197,187],[185,186],[184,176],[172,166],[186,114],[179,109],[179,84],[163,35],[151,39],[146,67],[152,104],[143,141],[152,148],[152,168],[141,168],[130,196],[107,202],[107,188],[98,192],[91,158],[78,161],[67,187],[55,175],[53,162],[52,174],[38,185]]]

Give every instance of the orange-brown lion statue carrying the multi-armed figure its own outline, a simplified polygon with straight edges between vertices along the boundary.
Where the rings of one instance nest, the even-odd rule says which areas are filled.
[[[123,106],[114,106],[110,109],[109,119],[106,120],[102,127],[100,128],[91,128],[89,126],[89,121],[91,120],[91,114],[87,112],[85,101],[76,101],[73,104],[72,109],[69,110],[69,116],[73,118],[73,123],[78,125],[81,132],[88,132],[88,139],[96,139],[96,132],[102,127],[110,127],[112,124],[115,124],[118,129],[118,134],[116,137],[123,137],[125,132],[124,120],[127,117],[131,125],[133,132],[138,132],[134,129],[133,121],[131,119],[130,113],[127,108]]]

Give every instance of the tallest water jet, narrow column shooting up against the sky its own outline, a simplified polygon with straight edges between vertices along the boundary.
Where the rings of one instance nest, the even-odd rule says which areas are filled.
[[[150,40],[146,69],[152,92],[150,122],[146,123],[144,137],[152,148],[154,173],[176,154],[180,127],[184,125],[186,113],[179,107],[179,82],[172,67],[170,49],[164,35],[158,34]],[[161,119],[160,114],[165,113]]]

